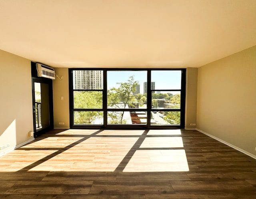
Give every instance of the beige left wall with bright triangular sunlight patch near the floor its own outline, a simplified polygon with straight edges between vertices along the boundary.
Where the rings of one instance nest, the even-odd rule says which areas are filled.
[[[0,154],[30,140],[33,131],[30,60],[0,50]]]

